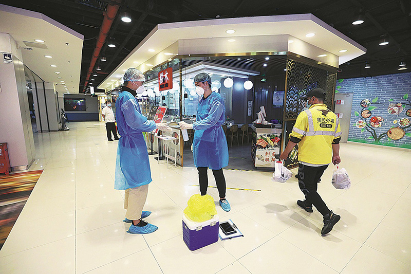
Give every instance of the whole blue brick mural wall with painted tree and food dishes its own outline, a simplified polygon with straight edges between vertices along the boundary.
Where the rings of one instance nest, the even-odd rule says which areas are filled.
[[[353,93],[348,141],[411,149],[411,72],[340,79],[337,92]],[[364,118],[368,112],[371,115]],[[377,117],[377,127],[372,117]],[[390,139],[387,133],[393,127],[402,129],[404,137]]]

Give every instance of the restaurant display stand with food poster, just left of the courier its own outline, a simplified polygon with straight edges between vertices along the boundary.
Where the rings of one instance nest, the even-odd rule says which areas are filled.
[[[282,129],[274,129],[259,124],[253,124],[253,137],[251,142],[251,159],[257,169],[273,170],[275,158],[278,159]]]

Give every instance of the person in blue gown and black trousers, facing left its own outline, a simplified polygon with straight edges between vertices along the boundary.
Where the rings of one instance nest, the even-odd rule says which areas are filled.
[[[231,207],[226,199],[226,179],[222,168],[228,166],[228,146],[221,125],[225,121],[226,106],[218,93],[211,91],[211,77],[200,73],[194,78],[196,93],[202,97],[198,103],[196,121],[192,124],[181,121],[180,128],[194,129],[194,165],[198,170],[201,195],[207,194],[207,169],[213,170],[220,206],[225,211]]]

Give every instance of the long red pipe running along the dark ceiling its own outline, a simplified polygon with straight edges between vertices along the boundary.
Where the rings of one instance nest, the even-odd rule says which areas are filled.
[[[118,5],[114,3],[118,3]],[[112,0],[108,2],[107,4],[107,11],[104,12],[104,19],[103,19],[103,22],[101,23],[101,28],[100,28],[99,36],[97,38],[96,47],[91,57],[90,67],[88,68],[88,71],[87,71],[86,80],[84,81],[83,93],[88,84],[88,80],[90,79],[90,76],[93,72],[94,66],[96,65],[97,59],[100,56],[101,48],[103,47],[104,42],[107,39],[108,31],[110,30],[111,25],[113,25],[113,21],[120,8],[120,4],[121,4],[121,0]]]

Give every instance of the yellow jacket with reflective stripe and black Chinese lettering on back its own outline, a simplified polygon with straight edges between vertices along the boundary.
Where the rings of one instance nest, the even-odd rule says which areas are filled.
[[[314,104],[301,112],[290,136],[298,143],[298,161],[328,165],[332,159],[332,142],[341,136],[340,121],[325,104]]]

